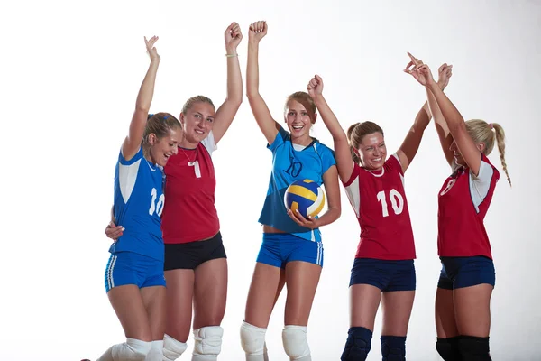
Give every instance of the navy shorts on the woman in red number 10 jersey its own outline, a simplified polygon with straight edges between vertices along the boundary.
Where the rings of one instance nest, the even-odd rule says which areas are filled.
[[[413,260],[355,258],[350,286],[353,284],[371,284],[381,292],[415,291],[415,265]]]

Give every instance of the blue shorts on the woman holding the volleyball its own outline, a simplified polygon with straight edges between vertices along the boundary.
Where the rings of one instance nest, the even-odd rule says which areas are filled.
[[[289,233],[263,233],[257,262],[285,268],[288,262],[304,261],[323,267],[323,244]]]

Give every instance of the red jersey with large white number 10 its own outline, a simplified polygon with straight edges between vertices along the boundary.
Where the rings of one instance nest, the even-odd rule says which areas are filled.
[[[396,154],[385,161],[379,172],[355,164],[344,188],[361,226],[355,258],[416,258],[404,173]]]

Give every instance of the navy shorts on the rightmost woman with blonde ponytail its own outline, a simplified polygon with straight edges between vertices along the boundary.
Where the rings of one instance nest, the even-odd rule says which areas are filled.
[[[496,284],[494,263],[488,257],[440,257],[442,272],[437,287],[444,290],[475,286],[488,283]]]

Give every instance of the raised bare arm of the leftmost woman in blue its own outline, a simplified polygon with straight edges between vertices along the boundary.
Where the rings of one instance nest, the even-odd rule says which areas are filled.
[[[124,140],[122,145],[122,153],[124,159],[129,161],[139,151],[139,147],[142,142],[142,134],[144,134],[144,127],[149,116],[149,110],[151,109],[152,97],[154,96],[154,84],[156,83],[156,73],[158,72],[158,66],[160,65],[160,55],[154,47],[154,43],[158,41],[157,36],[152,36],[151,40],[144,38],[147,52],[151,57],[151,65],[147,70],[147,73],[142,80],[139,94],[137,95],[137,101],[135,102],[135,111],[132,116],[132,123],[130,123],[130,130],[128,136]]]

